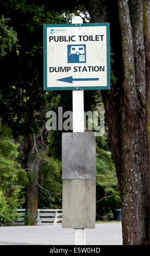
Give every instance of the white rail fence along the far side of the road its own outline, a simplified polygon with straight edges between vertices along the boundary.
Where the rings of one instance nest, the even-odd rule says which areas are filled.
[[[24,224],[26,209],[17,209],[20,218],[16,223]],[[37,209],[36,225],[53,224],[56,225],[62,220],[62,209]]]

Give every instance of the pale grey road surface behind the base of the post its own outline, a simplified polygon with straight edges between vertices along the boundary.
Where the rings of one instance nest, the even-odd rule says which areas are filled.
[[[86,229],[86,245],[122,245],[121,222]],[[74,229],[61,225],[0,227],[0,245],[74,245]]]

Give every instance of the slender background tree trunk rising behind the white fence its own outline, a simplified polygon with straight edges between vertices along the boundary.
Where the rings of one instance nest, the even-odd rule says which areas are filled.
[[[36,215],[39,194],[39,171],[43,162],[42,154],[47,154],[47,146],[44,143],[47,131],[45,126],[39,129],[39,133],[28,137],[28,186],[26,204],[26,224],[36,225]]]

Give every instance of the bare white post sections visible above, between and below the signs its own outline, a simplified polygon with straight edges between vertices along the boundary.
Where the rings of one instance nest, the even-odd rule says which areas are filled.
[[[80,16],[72,18],[72,24],[83,23]],[[72,91],[73,132],[84,132],[84,91]],[[85,245],[85,229],[74,228],[74,245]]]

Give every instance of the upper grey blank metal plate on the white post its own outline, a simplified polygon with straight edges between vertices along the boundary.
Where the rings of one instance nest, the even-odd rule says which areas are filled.
[[[62,133],[62,180],[96,179],[94,132]]]

